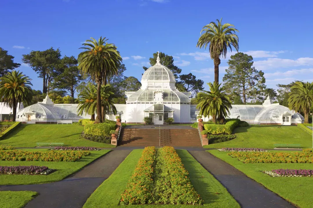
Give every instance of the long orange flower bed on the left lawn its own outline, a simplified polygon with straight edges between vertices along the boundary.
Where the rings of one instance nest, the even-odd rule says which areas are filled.
[[[13,161],[65,161],[75,162],[83,156],[90,155],[87,151],[0,151],[0,160]]]

